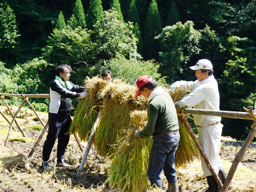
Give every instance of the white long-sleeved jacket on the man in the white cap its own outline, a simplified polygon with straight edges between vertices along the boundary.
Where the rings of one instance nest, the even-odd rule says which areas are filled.
[[[180,108],[194,107],[194,109],[220,110],[218,83],[214,79],[214,76],[209,76],[201,82],[198,80],[180,81],[180,87],[185,91],[190,92],[177,102]],[[195,124],[200,127],[204,127],[221,120],[221,117],[218,116],[193,114],[193,117]]]

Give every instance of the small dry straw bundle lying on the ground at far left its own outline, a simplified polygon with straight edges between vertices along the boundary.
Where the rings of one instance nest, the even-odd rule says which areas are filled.
[[[0,166],[3,169],[9,169],[16,166],[19,168],[25,168],[25,156],[20,153],[16,156],[0,158]]]

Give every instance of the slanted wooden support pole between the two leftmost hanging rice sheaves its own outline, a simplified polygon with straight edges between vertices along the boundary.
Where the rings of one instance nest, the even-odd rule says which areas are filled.
[[[86,149],[85,149],[85,152],[84,152],[83,159],[82,159],[81,164],[80,164],[80,166],[79,166],[79,169],[78,169],[78,171],[77,171],[76,177],[81,177],[82,171],[83,171],[83,169],[84,169],[84,164],[85,164],[85,162],[86,162],[86,160],[87,160],[87,156],[88,156],[89,151],[90,151],[90,148],[91,148],[91,146],[92,146],[92,139],[93,139],[94,132],[96,131],[96,127],[97,127],[98,122],[99,122],[99,119],[100,119],[100,114],[101,114],[101,109],[99,110],[98,116],[97,116],[96,121],[95,121],[95,123],[94,123],[94,125],[93,125],[93,129],[92,129],[90,138],[89,138],[89,140],[88,140],[88,143],[87,143],[87,146],[86,146]]]

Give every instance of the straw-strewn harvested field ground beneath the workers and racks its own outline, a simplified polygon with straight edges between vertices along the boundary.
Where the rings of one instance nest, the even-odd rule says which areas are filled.
[[[0,106],[0,110],[11,121],[10,114],[8,115],[6,107]],[[13,109],[15,112],[15,108]],[[39,113],[42,120],[46,123],[48,114]],[[1,158],[8,156],[16,156],[23,154],[25,156],[25,167],[13,167],[6,169],[0,166],[0,192],[28,192],[28,191],[76,191],[76,192],[99,192],[99,191],[118,191],[116,189],[109,189],[105,180],[108,175],[108,166],[110,162],[107,158],[103,158],[97,154],[94,148],[91,148],[88,160],[84,166],[81,177],[76,177],[83,153],[78,147],[76,140],[71,135],[68,148],[65,153],[64,160],[71,165],[70,168],[55,167],[57,143],[54,145],[50,157],[50,166],[53,168],[51,172],[44,172],[40,167],[42,163],[42,148],[47,133],[44,134],[36,151],[31,158],[28,155],[38,139],[41,131],[34,130],[38,128],[40,122],[31,110],[22,108],[20,116],[17,118],[18,123],[31,138],[30,142],[21,142],[15,140],[14,137],[22,137],[19,131],[12,131],[11,137],[7,147],[4,147],[4,142],[9,130],[9,124],[0,116],[0,161]],[[17,126],[14,124],[16,130]],[[42,126],[41,126],[42,127]],[[223,138],[227,139],[227,138]],[[87,143],[81,142],[85,150]],[[232,165],[235,155],[240,148],[233,146],[221,145],[220,157],[225,169],[228,171]],[[242,162],[238,165],[236,173],[233,177],[229,192],[256,192],[256,150],[247,149]],[[203,176],[201,163],[195,160],[186,169],[177,169],[179,191],[181,192],[196,192],[204,191],[207,188],[207,182]],[[163,187],[167,187],[168,183],[162,174]],[[152,191],[152,190],[151,190]]]

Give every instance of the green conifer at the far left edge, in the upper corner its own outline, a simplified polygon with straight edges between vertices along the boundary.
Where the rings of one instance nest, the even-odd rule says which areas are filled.
[[[7,4],[0,4],[0,50],[5,61],[8,55],[15,54],[18,50],[19,32],[16,25],[16,16]]]

